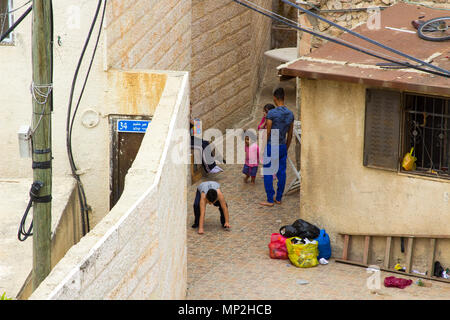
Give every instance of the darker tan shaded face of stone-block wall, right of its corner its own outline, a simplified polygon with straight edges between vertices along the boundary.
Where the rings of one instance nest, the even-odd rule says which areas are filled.
[[[254,1],[271,8],[271,0]],[[193,116],[225,130],[250,117],[271,20],[231,0],[192,0]]]

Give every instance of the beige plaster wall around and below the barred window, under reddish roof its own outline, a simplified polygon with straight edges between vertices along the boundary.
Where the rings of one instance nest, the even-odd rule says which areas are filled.
[[[450,182],[363,166],[365,90],[359,84],[301,80],[302,182],[300,218],[330,234],[334,257],[342,254],[339,232],[449,235]],[[373,244],[376,263],[384,239]],[[363,239],[350,259],[362,260]],[[417,241],[414,266],[422,268],[428,242]],[[393,257],[406,254],[394,244]],[[450,240],[440,240],[436,260],[450,264]],[[420,270],[420,269],[419,269]]]

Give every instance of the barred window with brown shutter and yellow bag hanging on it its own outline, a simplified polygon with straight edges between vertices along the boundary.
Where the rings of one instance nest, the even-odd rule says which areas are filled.
[[[450,179],[448,97],[367,89],[363,165]],[[413,148],[415,168],[403,157]]]

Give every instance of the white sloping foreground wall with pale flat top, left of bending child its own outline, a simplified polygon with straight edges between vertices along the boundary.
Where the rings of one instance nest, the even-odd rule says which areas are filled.
[[[30,299],[185,297],[188,112],[187,73],[169,73],[119,202]]]

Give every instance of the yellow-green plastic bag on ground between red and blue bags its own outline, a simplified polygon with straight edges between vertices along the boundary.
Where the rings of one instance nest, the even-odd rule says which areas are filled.
[[[313,243],[292,243],[293,239],[300,239],[298,237],[288,238],[286,240],[286,248],[288,250],[289,260],[293,265],[299,268],[311,268],[319,264],[317,256],[319,255],[319,244],[317,241]]]

